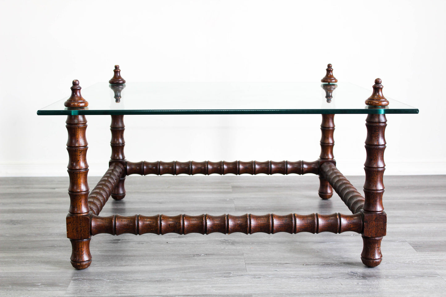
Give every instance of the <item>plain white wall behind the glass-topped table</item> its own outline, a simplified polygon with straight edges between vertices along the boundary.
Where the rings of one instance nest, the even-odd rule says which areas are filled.
[[[0,176],[67,175],[65,116],[36,111],[74,78],[85,88],[119,64],[128,82],[318,81],[327,63],[339,81],[371,89],[380,77],[384,95],[420,109],[387,116],[387,174],[446,174],[446,2],[420,3],[1,1]],[[90,175],[107,169],[109,118],[87,117]],[[319,156],[320,115],[125,118],[129,161]],[[363,174],[364,120],[335,116],[344,174]]]

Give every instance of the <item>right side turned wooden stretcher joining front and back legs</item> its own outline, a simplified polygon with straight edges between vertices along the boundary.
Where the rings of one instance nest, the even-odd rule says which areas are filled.
[[[356,214],[363,209],[364,197],[336,168],[335,164],[326,162],[321,166],[321,173],[338,193],[345,205]]]

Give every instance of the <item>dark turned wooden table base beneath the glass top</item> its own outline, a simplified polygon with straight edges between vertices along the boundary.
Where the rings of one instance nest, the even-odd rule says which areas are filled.
[[[91,264],[91,236],[99,233],[120,235],[132,233],[200,233],[213,232],[252,234],[256,232],[333,232],[353,231],[363,237],[361,260],[368,267],[380,264],[382,255],[381,239],[386,235],[386,214],[382,205],[384,192],[384,114],[369,114],[366,120],[367,137],[365,148],[364,197],[351,185],[336,168],[333,156],[335,144],[334,115],[322,115],[321,154],[317,161],[234,161],[234,162],[128,162],[124,156],[124,115],[111,115],[111,159],[107,172],[95,188],[89,192],[87,183],[88,164],[86,159],[87,139],[85,131],[87,120],[84,115],[68,115],[67,150],[69,155],[68,174],[70,176],[70,209],[66,217],[67,237],[72,244],[71,264],[76,269],[84,269]],[[131,174],[317,174],[320,179],[318,194],[322,199],[333,195],[333,190],[347,205],[352,214],[245,214],[233,216],[223,214],[213,216],[202,214],[190,216],[179,214],[165,216],[124,217],[115,214],[100,217],[99,213],[111,196],[122,199],[125,196],[125,177]]]

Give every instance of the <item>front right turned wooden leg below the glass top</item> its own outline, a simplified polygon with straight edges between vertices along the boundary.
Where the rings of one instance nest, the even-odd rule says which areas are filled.
[[[362,210],[364,229],[362,262],[368,267],[375,267],[381,263],[381,239],[386,235],[387,216],[383,207],[383,175],[384,175],[384,149],[386,128],[384,114],[367,115],[367,138],[365,149],[367,152],[364,164],[364,206]]]

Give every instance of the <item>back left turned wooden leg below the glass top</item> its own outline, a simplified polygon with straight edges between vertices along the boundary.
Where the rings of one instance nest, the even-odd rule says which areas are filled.
[[[124,156],[124,115],[111,115],[111,157],[110,165],[115,162],[121,163],[125,168],[125,156]],[[125,197],[124,181],[125,170],[120,176],[118,184],[111,192],[111,197],[115,200],[120,200]]]

